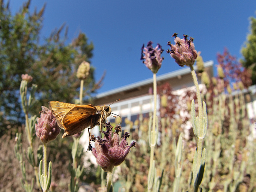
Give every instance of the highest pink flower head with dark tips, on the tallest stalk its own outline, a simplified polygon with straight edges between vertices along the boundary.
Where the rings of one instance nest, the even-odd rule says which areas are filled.
[[[173,59],[175,59],[176,63],[179,66],[191,66],[195,63],[197,58],[197,52],[195,49],[195,45],[193,43],[193,38],[187,39],[187,35],[183,35],[183,39],[177,37],[177,33],[174,33],[172,37],[175,37],[175,44],[171,44],[169,41],[167,45],[170,46],[170,50],[167,50],[167,53],[171,55]]]

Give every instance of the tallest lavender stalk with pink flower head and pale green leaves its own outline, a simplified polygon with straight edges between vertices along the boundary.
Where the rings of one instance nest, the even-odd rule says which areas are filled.
[[[194,156],[193,161],[193,180],[194,180],[194,187],[195,192],[198,191],[198,188],[203,179],[203,172],[205,166],[205,158],[206,158],[206,150],[203,149],[203,138],[206,135],[207,130],[207,112],[206,112],[206,104],[205,102],[202,103],[200,89],[198,86],[198,81],[196,77],[196,72],[194,70],[194,63],[197,58],[197,52],[193,43],[193,38],[187,39],[187,35],[184,35],[183,39],[177,37],[177,33],[173,34],[175,37],[174,42],[175,44],[171,44],[168,42],[167,45],[170,46],[170,50],[167,50],[167,53],[175,59],[175,62],[178,63],[179,66],[189,66],[192,74],[192,78],[194,84],[196,86],[196,96],[198,101],[198,117],[196,117],[195,111],[195,101],[192,100],[191,103],[191,113],[192,113],[192,127],[194,134],[197,138],[197,149]]]

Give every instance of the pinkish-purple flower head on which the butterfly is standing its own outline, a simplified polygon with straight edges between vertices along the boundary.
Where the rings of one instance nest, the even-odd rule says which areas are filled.
[[[125,133],[120,141],[119,132],[121,132],[121,127],[116,126],[116,131],[113,133],[113,126],[110,123],[106,123],[107,130],[104,133],[104,138],[98,137],[98,140],[94,138],[95,148],[91,151],[96,157],[97,163],[105,172],[112,171],[114,166],[119,166],[128,153],[130,148],[134,147],[136,142],[133,141],[132,144],[128,146],[127,137],[129,133]]]

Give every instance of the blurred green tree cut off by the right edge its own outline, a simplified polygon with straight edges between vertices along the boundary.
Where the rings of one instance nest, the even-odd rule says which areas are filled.
[[[251,17],[251,33],[247,36],[247,41],[244,47],[241,48],[241,53],[244,59],[241,63],[248,69],[252,70],[252,85],[256,84],[256,18]]]

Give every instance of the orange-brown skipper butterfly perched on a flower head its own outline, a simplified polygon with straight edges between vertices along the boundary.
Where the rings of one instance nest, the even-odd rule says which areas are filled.
[[[64,129],[65,133],[62,138],[75,135],[87,127],[100,126],[102,129],[102,124],[111,114],[109,106],[76,105],[60,101],[49,102],[49,108],[56,117],[56,122],[61,129]]]

